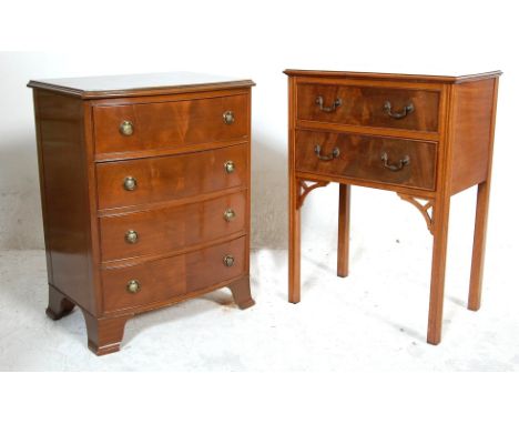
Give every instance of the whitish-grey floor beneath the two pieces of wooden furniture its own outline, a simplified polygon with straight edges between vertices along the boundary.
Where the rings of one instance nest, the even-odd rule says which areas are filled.
[[[44,252],[2,251],[0,370],[518,371],[517,281],[488,255],[484,306],[475,313],[465,306],[467,264],[450,266],[444,340],[431,346],[430,248],[415,248],[395,240],[369,254],[355,248],[347,279],[335,276],[335,252],[307,248],[297,305],[286,301],[286,251],[255,251],[254,307],[238,310],[224,289],[145,313],[126,324],[121,352],[103,357],[86,349],[78,310],[58,322],[45,317]]]

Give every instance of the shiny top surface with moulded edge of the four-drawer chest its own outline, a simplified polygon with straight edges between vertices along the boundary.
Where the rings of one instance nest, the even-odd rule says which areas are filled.
[[[99,99],[129,95],[172,94],[206,90],[225,90],[255,85],[252,80],[195,72],[162,72],[125,75],[42,79],[28,87]]]

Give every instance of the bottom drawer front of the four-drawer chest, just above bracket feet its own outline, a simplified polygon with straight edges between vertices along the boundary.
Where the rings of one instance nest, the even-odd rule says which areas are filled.
[[[143,264],[102,272],[104,311],[165,302],[246,273],[245,238]],[[224,263],[232,256],[231,265]],[[231,265],[231,266],[228,266]],[[130,289],[134,289],[132,292]]]

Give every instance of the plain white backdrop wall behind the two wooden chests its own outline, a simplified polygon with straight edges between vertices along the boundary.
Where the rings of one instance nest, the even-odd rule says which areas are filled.
[[[253,246],[285,249],[285,68],[404,73],[503,70],[489,245],[512,246],[519,152],[512,135],[519,94],[515,40],[519,34],[507,7],[511,2],[493,1],[490,7],[481,1],[408,0],[114,1],[95,8],[98,3],[77,8],[62,2],[62,12],[74,19],[64,19],[54,9],[55,16],[43,20],[40,13],[49,2],[38,2],[23,17],[23,24],[2,22],[3,41],[47,52],[0,53],[0,249],[43,246],[28,80],[171,70],[252,78],[257,83],[253,89]],[[303,215],[304,241],[334,245],[336,194],[337,188],[330,185],[309,196]],[[373,233],[374,242],[375,234],[428,240],[421,216],[394,194],[355,189],[353,201],[354,238]],[[474,203],[474,190],[452,201],[450,235],[466,241],[467,249]]]

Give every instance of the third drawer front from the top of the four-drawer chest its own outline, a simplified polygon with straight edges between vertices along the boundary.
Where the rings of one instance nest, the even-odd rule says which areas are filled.
[[[245,230],[246,191],[100,219],[103,261],[172,252]]]

